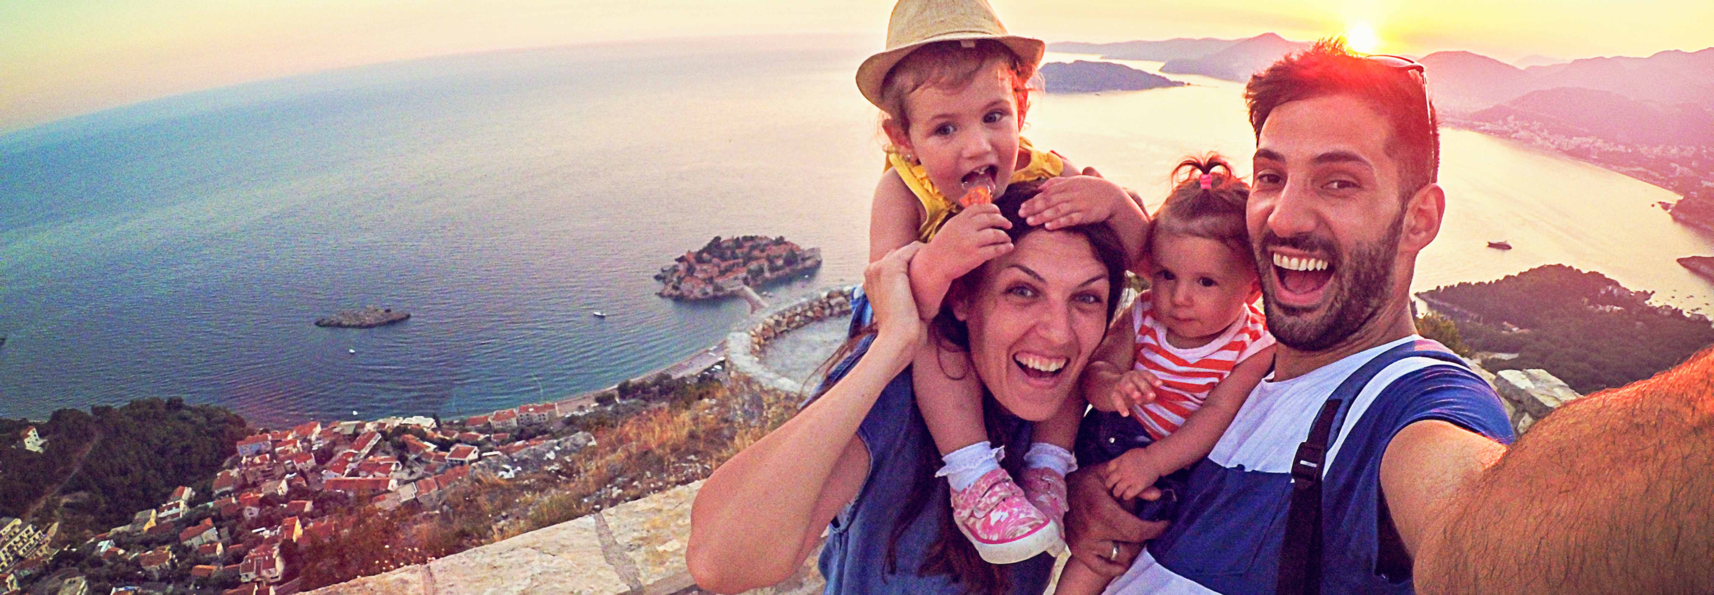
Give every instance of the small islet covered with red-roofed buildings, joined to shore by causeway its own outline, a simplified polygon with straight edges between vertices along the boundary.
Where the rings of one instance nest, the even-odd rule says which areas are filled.
[[[790,278],[821,267],[821,249],[804,249],[785,237],[715,237],[698,250],[684,252],[660,267],[655,295],[674,300],[710,300],[746,286]]]

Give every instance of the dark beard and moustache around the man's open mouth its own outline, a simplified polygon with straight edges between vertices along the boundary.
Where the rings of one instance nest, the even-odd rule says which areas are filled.
[[[1404,214],[1387,226],[1380,242],[1357,245],[1347,255],[1332,240],[1315,235],[1297,235],[1280,238],[1274,231],[1263,231],[1256,243],[1256,269],[1262,271],[1262,295],[1268,316],[1268,333],[1280,345],[1299,352],[1328,350],[1373,321],[1387,293],[1392,288],[1393,257],[1399,254],[1399,240],[1404,230]],[[1325,300],[1321,316],[1309,314],[1308,309],[1280,305],[1275,298],[1279,278],[1275,278],[1272,247],[1291,247],[1311,254],[1325,254],[1328,266],[1335,271],[1337,281],[1333,295]],[[1313,316],[1313,317],[1311,317]]]

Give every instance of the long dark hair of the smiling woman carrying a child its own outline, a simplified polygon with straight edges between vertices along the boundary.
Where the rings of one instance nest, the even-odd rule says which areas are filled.
[[[1025,182],[1013,183],[1006,187],[1006,194],[994,201],[999,207],[999,214],[1011,221],[1011,228],[1006,235],[1011,237],[1013,243],[1034,231],[1040,231],[1040,226],[1034,226],[1018,216],[1018,207],[1025,201],[1035,197],[1040,192],[1040,183]],[[1124,271],[1130,267],[1126,262],[1124,243],[1119,240],[1119,233],[1112,231],[1106,223],[1076,225],[1070,228],[1061,228],[1061,231],[1078,233],[1088,240],[1090,249],[1095,252],[1095,259],[1107,267],[1107,321],[1112,321],[1112,312],[1119,305],[1119,295],[1124,291]],[[941,300],[941,312],[929,322],[929,340],[936,341],[943,350],[950,352],[968,352],[970,350],[970,329],[953,316],[953,300],[967,298],[975,293],[975,286],[987,274],[989,266],[979,266],[975,271],[953,281],[951,288],[946,291],[946,298]],[[872,334],[874,326],[871,324],[864,331],[857,333],[850,341],[833,352],[833,357],[823,364],[823,372],[831,369],[835,362],[843,360],[852,350],[862,341],[864,336]],[[823,384],[821,391],[814,396],[819,398],[826,393],[831,384]],[[814,400],[811,398],[811,401]],[[1018,434],[1020,424],[1023,424],[1015,415],[1008,413],[994,396],[982,388],[982,422],[987,427],[987,439],[994,446],[1011,448],[1011,439]],[[1023,444],[1018,444],[1023,446]],[[941,465],[939,453],[932,448],[922,451],[922,468],[934,470]],[[1020,477],[1023,472],[1023,453],[1011,453],[1001,461],[1001,466],[1013,477]],[[951,508],[944,499],[929,502],[931,496],[936,494],[936,484],[943,482],[934,477],[932,472],[917,477],[915,484],[910,487],[910,497],[905,508],[898,514],[898,525],[893,525],[893,533],[886,544],[886,571],[898,571],[898,540],[905,535],[907,526],[917,520],[917,516],[936,514],[941,518],[941,535],[934,538],[929,545],[927,556],[924,556],[922,566],[917,568],[919,576],[934,574],[951,574],[960,585],[963,585],[967,593],[984,595],[984,593],[1006,593],[1011,588],[1010,573],[1001,568],[982,561],[970,545],[970,540],[958,532],[953,525]]]

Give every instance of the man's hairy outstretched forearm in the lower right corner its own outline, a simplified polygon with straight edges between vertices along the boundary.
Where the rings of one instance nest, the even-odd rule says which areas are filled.
[[[1561,406],[1447,511],[1423,593],[1714,592],[1714,350]]]

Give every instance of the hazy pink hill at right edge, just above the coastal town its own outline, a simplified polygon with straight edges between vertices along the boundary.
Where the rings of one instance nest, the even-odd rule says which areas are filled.
[[[1618,144],[1714,144],[1714,110],[1681,103],[1659,108],[1618,93],[1582,87],[1531,91],[1503,105],[1471,113],[1471,120],[1529,122],[1565,137],[1596,137]]]

